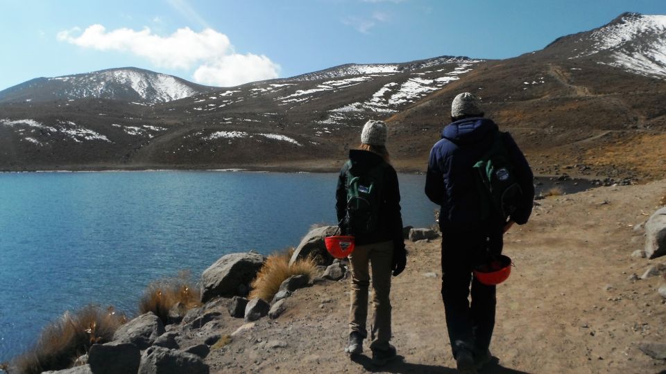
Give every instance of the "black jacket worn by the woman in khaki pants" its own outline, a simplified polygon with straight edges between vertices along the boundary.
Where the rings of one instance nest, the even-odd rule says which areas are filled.
[[[379,163],[385,163],[379,154],[365,150],[350,150],[349,159],[351,170],[364,173],[365,170],[374,168]],[[347,170],[348,163],[340,170],[338,186],[336,188],[335,209],[338,222],[342,222],[347,214]],[[400,214],[400,188],[398,186],[398,174],[390,164],[386,163],[384,168],[384,180],[382,181],[382,206],[377,213],[377,231],[375,233],[362,233],[355,235],[358,245],[373,244],[378,242],[393,241],[394,248],[404,247],[402,237],[402,215]]]

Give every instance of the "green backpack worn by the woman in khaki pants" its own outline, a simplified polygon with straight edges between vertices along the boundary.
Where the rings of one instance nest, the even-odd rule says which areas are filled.
[[[379,206],[382,202],[384,163],[379,163],[363,175],[347,171],[347,214],[345,226],[352,235],[377,231]]]

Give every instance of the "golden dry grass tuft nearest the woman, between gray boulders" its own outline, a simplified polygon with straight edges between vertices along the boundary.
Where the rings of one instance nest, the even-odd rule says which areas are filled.
[[[285,251],[273,253],[266,258],[264,266],[257,273],[257,278],[252,281],[251,299],[259,298],[270,303],[273,296],[280,290],[282,282],[290,276],[302,274],[308,276],[308,278],[314,277],[317,265],[312,258],[297,260],[291,267],[289,266],[293,250],[292,247]]]

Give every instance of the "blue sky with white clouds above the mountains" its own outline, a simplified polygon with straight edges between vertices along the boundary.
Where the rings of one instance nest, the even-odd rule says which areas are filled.
[[[122,66],[232,86],[349,62],[501,59],[666,0],[0,0],[0,90]]]

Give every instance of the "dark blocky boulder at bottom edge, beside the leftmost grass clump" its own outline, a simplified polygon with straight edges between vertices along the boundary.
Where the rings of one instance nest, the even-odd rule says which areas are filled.
[[[139,347],[131,343],[93,344],[88,364],[95,374],[136,373],[141,362]]]

